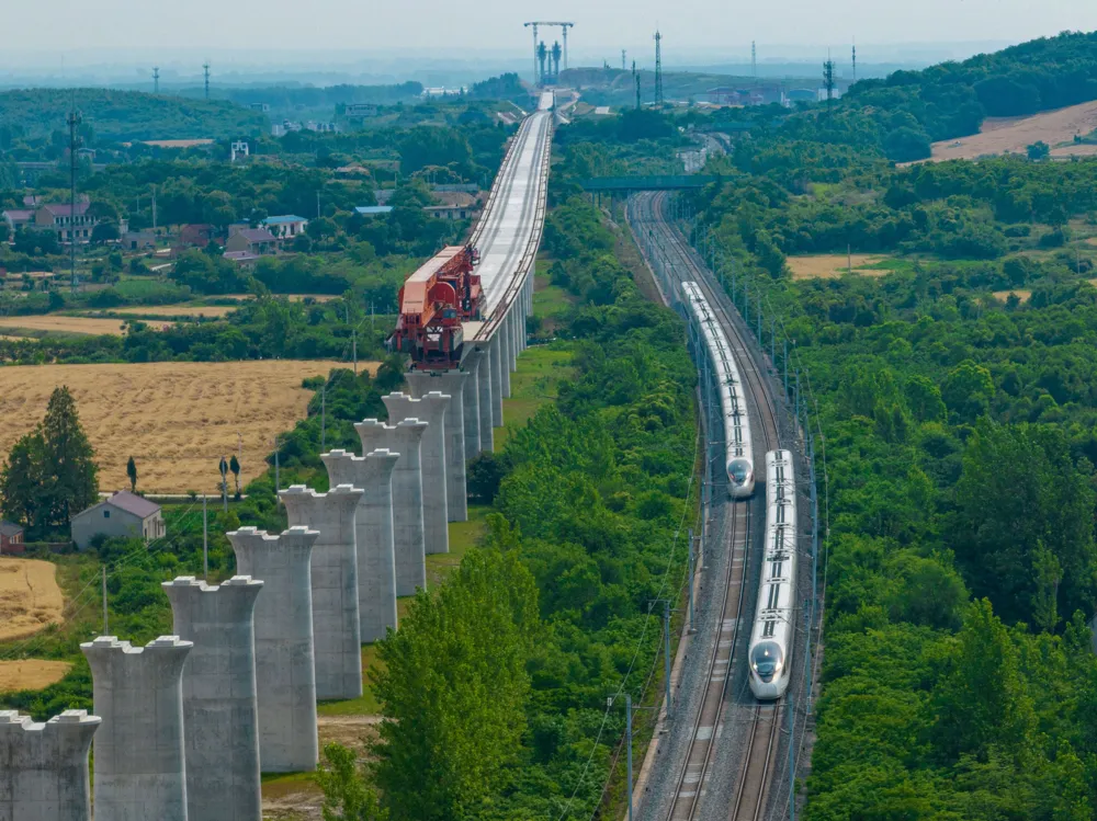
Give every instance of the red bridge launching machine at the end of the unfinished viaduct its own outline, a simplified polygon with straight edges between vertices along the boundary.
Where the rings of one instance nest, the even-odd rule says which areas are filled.
[[[480,319],[477,262],[472,246],[449,246],[404,283],[388,345],[408,354],[414,367],[446,369],[461,363],[462,323]]]

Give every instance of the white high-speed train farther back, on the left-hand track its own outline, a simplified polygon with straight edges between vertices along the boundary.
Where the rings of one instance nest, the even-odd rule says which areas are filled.
[[[739,369],[732,355],[727,335],[695,282],[682,283],[682,301],[700,329],[720,390],[728,493],[733,499],[746,499],[754,493],[755,470],[754,451],[750,448],[750,419]]]

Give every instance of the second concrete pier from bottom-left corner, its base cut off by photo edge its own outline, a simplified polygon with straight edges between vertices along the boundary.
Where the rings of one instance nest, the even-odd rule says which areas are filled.
[[[133,647],[114,636],[80,645],[95,715],[95,821],[186,821],[183,663],[194,645],[161,636]]]

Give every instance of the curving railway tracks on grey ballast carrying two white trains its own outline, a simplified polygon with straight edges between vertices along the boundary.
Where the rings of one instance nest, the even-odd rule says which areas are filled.
[[[659,246],[669,258],[668,273],[678,282],[697,282],[713,312],[727,334],[743,379],[754,402],[755,417],[761,423],[764,441],[755,453],[755,465],[765,465],[767,451],[779,446],[777,412],[764,363],[756,357],[744,330],[732,315],[730,300],[723,290],[713,288],[710,275],[699,262],[686,238],[666,221],[667,194],[646,194],[638,197],[641,220],[653,232]],[[765,477],[756,467],[756,480],[765,487]],[[721,729],[733,726],[725,718],[730,682],[736,661],[739,642],[739,625],[743,620],[744,598],[748,588],[748,558],[750,545],[750,501],[731,502],[732,537],[731,561],[723,580],[722,616],[720,637],[714,642],[709,661],[709,677],[705,682],[701,706],[693,721],[689,750],[678,776],[677,788],[667,814],[668,821],[692,821],[700,817],[705,785],[712,777],[713,753]],[[739,511],[745,511],[739,513]],[[749,629],[749,628],[748,628]],[[783,702],[778,704],[754,704],[749,708],[745,728],[746,746],[735,783],[732,800],[726,813],[715,807],[704,807],[705,818],[727,818],[731,821],[759,821],[766,817],[767,798],[772,779],[779,746],[779,732]],[[736,730],[739,722],[735,725]]]

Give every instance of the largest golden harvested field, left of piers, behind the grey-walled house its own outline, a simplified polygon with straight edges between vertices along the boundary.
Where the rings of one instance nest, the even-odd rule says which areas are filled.
[[[129,487],[126,459],[137,463],[139,490],[213,492],[217,463],[237,453],[241,481],[265,468],[271,437],[305,414],[308,376],[333,362],[157,362],[0,368],[0,453],[45,414],[49,394],[67,385],[99,464],[100,489]],[[375,373],[376,363],[359,363]],[[231,477],[229,477],[231,478]]]

